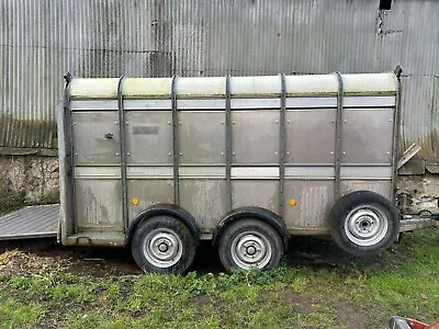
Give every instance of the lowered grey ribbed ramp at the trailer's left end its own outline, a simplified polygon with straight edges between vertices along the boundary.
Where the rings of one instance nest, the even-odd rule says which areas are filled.
[[[0,216],[0,240],[56,237],[59,204],[26,206]]]

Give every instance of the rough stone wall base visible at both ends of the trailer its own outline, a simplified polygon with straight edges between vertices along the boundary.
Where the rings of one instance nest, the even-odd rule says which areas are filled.
[[[0,156],[0,213],[24,204],[59,202],[57,157]],[[398,194],[406,213],[439,214],[439,175],[401,175]]]

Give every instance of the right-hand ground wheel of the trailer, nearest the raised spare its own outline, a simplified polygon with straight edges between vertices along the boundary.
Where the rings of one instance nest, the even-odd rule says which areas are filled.
[[[240,219],[224,229],[218,253],[224,268],[269,270],[279,266],[284,252],[282,239],[273,227],[258,219]]]

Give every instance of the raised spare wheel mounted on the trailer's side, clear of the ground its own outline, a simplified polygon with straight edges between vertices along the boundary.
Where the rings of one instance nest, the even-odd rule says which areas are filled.
[[[336,243],[360,257],[387,248],[399,231],[396,207],[384,196],[357,191],[342,196],[330,212],[330,230]]]

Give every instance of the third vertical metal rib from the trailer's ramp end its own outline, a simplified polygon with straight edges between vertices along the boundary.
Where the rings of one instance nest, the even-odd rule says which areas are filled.
[[[173,149],[173,204],[180,204],[180,143],[179,143],[179,122],[177,112],[177,76],[172,77],[171,84],[171,106],[172,106],[172,149]]]

